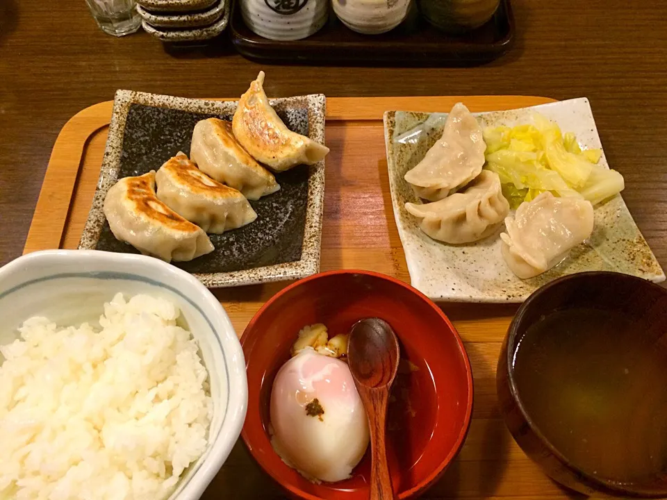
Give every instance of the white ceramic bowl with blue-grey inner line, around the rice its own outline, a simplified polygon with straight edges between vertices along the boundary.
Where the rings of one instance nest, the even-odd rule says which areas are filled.
[[[0,344],[17,338],[28,318],[97,325],[104,303],[122,292],[163,297],[179,306],[197,340],[211,383],[213,415],[204,455],[186,469],[171,500],[197,500],[238,439],[245,419],[243,353],[220,302],[196,278],[156,258],[96,250],[28,253],[0,268]],[[3,363],[0,354],[0,364]],[[45,456],[44,460],[49,457]]]

